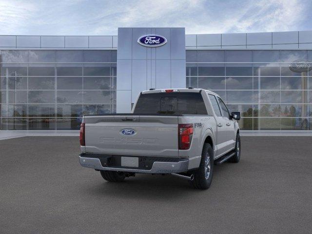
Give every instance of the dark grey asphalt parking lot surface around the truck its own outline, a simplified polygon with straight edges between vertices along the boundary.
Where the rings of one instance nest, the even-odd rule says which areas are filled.
[[[174,176],[106,182],[78,137],[0,140],[0,233],[311,233],[312,137],[241,137],[212,187]]]

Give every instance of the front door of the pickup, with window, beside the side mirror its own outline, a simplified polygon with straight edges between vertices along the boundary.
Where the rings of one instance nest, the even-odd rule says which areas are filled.
[[[221,107],[221,112],[222,112],[222,117],[226,121],[226,126],[227,126],[227,145],[228,145],[228,150],[232,150],[235,147],[235,128],[234,128],[234,121],[230,119],[230,113],[224,102],[222,101],[221,98],[217,98],[218,102]]]

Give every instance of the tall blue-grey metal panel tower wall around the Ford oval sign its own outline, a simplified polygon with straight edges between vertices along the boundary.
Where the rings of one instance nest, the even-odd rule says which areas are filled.
[[[167,43],[145,47],[143,35],[157,34]],[[150,88],[185,87],[184,28],[118,28],[117,113],[131,111],[137,95]]]

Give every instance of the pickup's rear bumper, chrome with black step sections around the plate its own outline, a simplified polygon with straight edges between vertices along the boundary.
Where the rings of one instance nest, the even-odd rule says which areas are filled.
[[[111,166],[106,165],[106,159],[110,156],[102,155],[88,155],[80,154],[79,162],[83,167],[93,168],[104,171],[118,171],[118,172],[134,172],[147,174],[167,174],[167,173],[181,173],[186,172],[189,167],[188,158],[172,158],[173,161],[161,160],[149,162],[151,165],[148,169],[121,167],[117,164]],[[152,157],[148,157],[152,158]],[[104,165],[104,166],[103,166]]]

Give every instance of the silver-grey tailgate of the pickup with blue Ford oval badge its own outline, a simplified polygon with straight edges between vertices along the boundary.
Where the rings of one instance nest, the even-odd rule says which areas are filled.
[[[177,116],[85,117],[85,150],[109,155],[177,157],[177,127]]]

